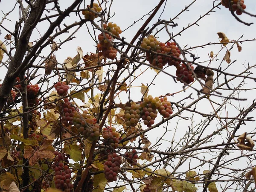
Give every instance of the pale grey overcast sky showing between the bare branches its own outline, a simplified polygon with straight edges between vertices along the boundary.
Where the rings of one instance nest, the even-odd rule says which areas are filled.
[[[87,4],[89,1],[86,1]],[[110,21],[113,23],[117,23],[122,30],[126,29],[128,26],[131,26],[134,21],[137,21],[133,26],[131,26],[128,30],[125,30],[122,32],[120,35],[121,37],[125,37],[125,40],[127,42],[130,42],[131,39],[134,37],[138,29],[140,29],[140,26],[145,22],[145,20],[148,18],[148,12],[150,12],[154,7],[157,5],[156,0],[114,0],[112,7],[111,7],[111,14],[113,17],[111,17]],[[216,3],[219,3],[220,1],[216,1]],[[62,10],[67,8],[67,6],[70,5],[70,1],[64,1],[60,0],[59,5]],[[189,5],[192,3],[192,0],[179,0],[179,1],[172,1],[172,0],[167,0],[165,4],[165,8],[163,9],[163,6],[157,12],[157,15],[151,20],[151,22],[148,24],[148,27],[151,28],[154,23],[157,22],[157,20],[160,18],[169,20],[175,17],[182,9],[185,8],[185,6]],[[0,3],[0,10],[2,10],[4,13],[8,12],[10,8],[15,4],[15,1],[7,1],[7,0],[2,0]],[[250,13],[256,13],[256,3],[253,1],[246,0],[245,4],[247,6],[246,11]],[[174,35],[180,32],[183,28],[186,28],[190,24],[194,23],[196,20],[198,20],[201,16],[205,15],[213,5],[213,0],[196,0],[195,3],[190,6],[189,11],[183,12],[177,19],[174,20],[175,23],[178,25],[175,28],[170,28],[170,32],[172,32]],[[49,7],[50,8],[50,7]],[[250,17],[248,15],[242,14],[239,16],[241,20],[244,20],[247,23],[254,22],[255,24],[252,24],[251,26],[245,26],[242,23],[239,23],[228,11],[228,9],[225,9],[223,6],[220,6],[219,8],[221,9],[214,9],[214,12],[210,12],[209,15],[206,15],[203,17],[201,20],[197,22],[199,25],[193,25],[189,27],[189,29],[185,30],[184,32],[181,33],[181,35],[178,35],[175,37],[175,41],[177,41],[180,45],[180,47],[195,47],[198,45],[204,45],[209,42],[219,42],[217,32],[224,32],[227,37],[230,40],[238,40],[242,35],[243,37],[241,40],[251,40],[256,38],[255,32],[256,32],[256,18],[255,17]],[[0,20],[3,17],[3,12],[0,12]],[[48,14],[48,13],[46,13]],[[143,17],[143,20],[139,20],[143,15],[146,15]],[[17,13],[11,13],[8,16],[9,20],[4,20],[2,25],[6,26],[8,29],[11,31],[14,30],[15,26],[15,21],[17,20],[18,15]],[[54,20],[51,19],[51,20]],[[61,24],[61,28],[63,28],[63,24],[71,24],[75,21],[79,21],[79,17],[76,17],[75,14],[70,14],[70,17],[67,17],[64,22]],[[95,21],[99,21],[99,19],[96,19]],[[42,22],[39,23],[37,26],[37,30],[34,30],[33,35],[32,35],[32,41],[36,41],[38,38],[40,38],[41,35],[44,34],[45,30],[49,24],[47,22]],[[0,34],[0,40],[3,41],[3,37],[7,34],[5,30],[1,29],[1,34]],[[88,29],[90,32],[93,32],[92,26],[88,23]],[[153,34],[156,32],[154,30]],[[69,36],[71,33],[67,33],[64,35],[61,35],[59,38],[63,39],[67,36]],[[98,35],[99,32],[96,32]],[[82,26],[82,28],[76,32],[75,34],[76,38],[74,38],[72,41],[68,42],[67,44],[63,44],[61,49],[59,49],[56,52],[56,58],[59,63],[63,63],[64,60],[68,57],[74,57],[77,52],[76,48],[79,46],[83,49],[84,54],[87,52],[96,52],[96,44],[94,41],[90,38],[90,35],[88,35],[87,32],[87,27]],[[56,38],[55,41],[59,42],[59,38]],[[168,34],[165,31],[162,31],[157,34],[157,38],[161,42],[165,42],[168,40]],[[230,59],[231,62],[235,61],[232,66],[228,67],[226,72],[227,73],[233,73],[233,74],[238,74],[242,70],[245,69],[244,65],[250,64],[253,65],[255,64],[255,47],[256,47],[256,41],[248,41],[244,42],[243,44],[240,44],[242,47],[242,51],[238,52],[236,46],[230,51]],[[231,47],[231,44],[227,46],[228,48]],[[8,47],[7,47],[8,48]],[[47,48],[44,50],[43,54],[47,55],[49,54],[50,48]],[[221,65],[222,68],[226,68],[228,64],[224,61],[222,61],[222,58],[225,55],[225,49],[221,49],[221,45],[210,45],[210,46],[205,46],[204,48],[195,48],[192,49],[190,52],[195,54],[196,57],[199,57],[196,62],[204,62],[209,60],[209,53],[212,51],[215,54],[218,53],[221,50],[221,52],[218,54],[218,60],[217,61],[212,61],[210,63],[210,67],[218,68],[219,65]],[[119,57],[119,55],[118,55]],[[189,55],[187,56],[188,60],[191,60],[189,58]],[[209,62],[205,62],[203,65],[207,65]],[[3,67],[2,67],[3,68]],[[147,66],[141,67],[141,71],[145,70],[148,68]],[[105,68],[104,68],[105,69]],[[44,70],[39,70],[42,74],[44,73]],[[167,72],[171,73],[172,75],[175,75],[175,69],[172,67],[169,67],[166,69]],[[252,69],[252,72],[255,70]],[[136,72],[136,75],[139,75],[141,72]],[[4,76],[5,71],[1,71],[2,76]],[[124,76],[127,75],[127,73],[124,74]],[[154,70],[148,69],[145,73],[140,75],[140,78],[136,79],[131,87],[131,99],[134,101],[139,101],[142,97],[140,93],[140,86],[141,83],[147,84],[150,83],[154,78],[155,78],[156,73]],[[123,77],[124,77],[123,76]],[[255,77],[255,75],[253,75]],[[230,77],[228,77],[230,78]],[[3,79],[3,78],[1,78]],[[121,81],[121,78],[120,78]],[[232,84],[230,84],[231,87],[236,86],[238,83],[240,83],[241,79],[237,79],[233,81]],[[221,82],[224,82],[224,78],[222,78]],[[220,82],[220,83],[221,83]],[[128,83],[128,82],[127,82]],[[200,84],[198,82],[195,82],[194,86],[198,89],[200,88]],[[216,86],[216,82],[215,85]],[[244,87],[254,87],[255,82],[253,80],[247,80],[246,84]],[[180,83],[175,83],[173,79],[163,73],[158,75],[154,79],[154,85],[149,87],[149,93],[152,96],[160,96],[164,95],[166,93],[175,93],[177,91],[182,90],[182,84]],[[228,90],[221,90],[224,96],[228,96],[230,91]],[[177,102],[180,100],[180,98],[183,98],[189,93],[192,93],[192,98],[197,99],[197,92],[193,89],[187,89],[186,92],[181,92],[178,93],[177,95],[171,97],[172,102]],[[202,95],[201,95],[202,96]],[[247,91],[247,92],[241,92],[239,93],[240,98],[247,98],[247,101],[242,101],[238,102],[235,100],[232,100],[229,105],[227,105],[227,111],[230,116],[234,116],[238,113],[238,110],[236,108],[243,108],[246,107],[247,105],[250,105],[252,103],[252,100],[255,99],[255,91]],[[221,102],[222,99],[220,97],[211,97],[213,101],[215,102]],[[126,102],[128,100],[128,93],[122,93],[120,94],[120,100],[121,102]],[[116,102],[120,102],[118,99],[116,99]],[[192,102],[192,99],[187,99],[185,101],[186,105]],[[202,113],[209,113],[212,112],[212,107],[210,103],[204,99],[200,103],[197,104],[197,111],[200,111]],[[174,111],[177,112],[177,111]],[[219,116],[225,116],[225,111],[221,111]],[[183,116],[189,116],[191,117],[191,113],[183,113]],[[255,116],[255,112],[250,114],[250,116]],[[201,122],[201,116],[195,115],[194,116],[194,124]],[[180,120],[180,118],[175,117],[174,119],[171,119],[169,121],[169,127],[176,127],[177,122],[179,122],[177,128],[178,130],[182,131],[177,131],[175,134],[175,139],[179,140],[180,138],[183,137],[184,132],[188,131],[188,126],[191,125],[192,121],[185,121],[185,120]],[[156,137],[161,137],[162,134],[165,131],[166,123],[163,124],[163,126],[159,127],[157,130],[154,131],[149,131],[147,133],[148,139],[152,142],[155,143],[157,138]],[[216,127],[218,127],[219,124],[217,121],[212,122],[209,125],[209,132],[207,133],[212,133],[212,130],[214,130]],[[241,130],[239,130],[239,133],[243,133],[245,131],[250,132],[255,128],[254,123],[247,123],[247,125],[243,125]],[[159,146],[160,150],[165,150],[169,146],[169,141],[170,138],[173,137],[173,130],[171,129],[169,132],[167,132],[163,139],[165,141],[162,142],[162,145]],[[228,134],[227,134],[228,135]],[[226,141],[225,138],[227,135],[223,135],[223,141]],[[219,143],[220,140],[215,140],[215,143]],[[221,140],[222,142],[222,140]],[[237,155],[237,154],[235,154]],[[232,157],[232,155],[230,156]],[[185,168],[186,169],[186,168]],[[207,167],[205,168],[207,169]],[[184,170],[183,170],[184,171]],[[233,189],[232,189],[233,190]],[[230,189],[230,191],[232,191]],[[229,191],[229,190],[227,190]]]

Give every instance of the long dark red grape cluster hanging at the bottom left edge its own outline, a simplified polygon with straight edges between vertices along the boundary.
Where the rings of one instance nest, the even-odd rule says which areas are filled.
[[[67,165],[64,165],[64,155],[55,151],[56,155],[55,163],[52,164],[52,168],[55,171],[55,187],[61,189],[64,192],[70,192],[74,185],[71,183],[71,169]]]

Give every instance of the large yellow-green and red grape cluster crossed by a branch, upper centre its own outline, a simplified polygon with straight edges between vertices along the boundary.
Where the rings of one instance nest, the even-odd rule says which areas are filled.
[[[167,63],[169,65],[177,66],[180,64],[180,49],[176,46],[175,42],[160,43],[154,38],[154,35],[149,35],[148,38],[144,38],[140,45],[144,49],[152,50],[157,53],[165,54],[158,55],[150,51],[146,51],[147,61],[154,67],[163,69]]]

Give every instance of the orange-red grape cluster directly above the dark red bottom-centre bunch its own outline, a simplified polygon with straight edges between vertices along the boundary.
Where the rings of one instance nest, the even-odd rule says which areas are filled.
[[[111,131],[103,131],[103,144],[111,146],[116,149],[119,143],[119,133],[116,132],[116,128],[111,128]]]

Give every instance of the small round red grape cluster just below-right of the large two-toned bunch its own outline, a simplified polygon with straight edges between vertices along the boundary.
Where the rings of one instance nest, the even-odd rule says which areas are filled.
[[[194,81],[194,77],[192,73],[192,70],[194,70],[194,66],[192,66],[191,64],[189,64],[189,66],[191,70],[188,69],[185,64],[176,66],[177,68],[176,76],[178,77],[177,81],[180,81],[184,84],[189,84]]]

